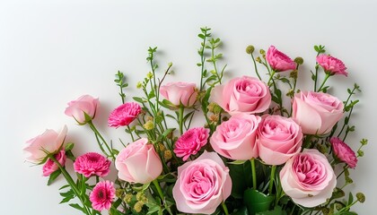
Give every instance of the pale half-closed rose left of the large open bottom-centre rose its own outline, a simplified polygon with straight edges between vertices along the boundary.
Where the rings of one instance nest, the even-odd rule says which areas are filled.
[[[132,142],[115,159],[118,177],[130,183],[147,184],[162,173],[162,162],[146,138]]]

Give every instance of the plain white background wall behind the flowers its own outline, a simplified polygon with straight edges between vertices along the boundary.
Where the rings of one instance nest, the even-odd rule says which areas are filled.
[[[284,3],[283,3],[284,2]],[[305,3],[302,3],[305,2]],[[66,102],[83,94],[101,100],[95,123],[108,139],[128,140],[107,128],[106,119],[120,104],[114,74],[127,75],[128,99],[136,82],[150,69],[146,49],[159,47],[161,68],[173,62],[167,81],[199,81],[197,39],[208,26],[224,41],[226,79],[254,75],[245,47],[275,45],[288,56],[302,56],[302,82],[309,83],[315,52],[322,44],[348,67],[348,78],[333,77],[332,92],[344,99],[346,87],[358,82],[363,93],[355,108],[357,133],[348,143],[370,144],[352,172],[352,191],[366,202],[355,210],[372,214],[377,203],[375,153],[375,73],[377,4],[373,1],[2,1],[0,3],[0,131],[1,214],[79,214],[59,205],[58,180],[47,186],[41,167],[24,162],[24,142],[44,132],[68,126],[75,154],[97,150],[88,127],[64,115]],[[304,81],[306,80],[306,81]],[[305,85],[305,84],[303,84]],[[128,140],[129,141],[129,140]],[[68,165],[70,165],[68,163]]]

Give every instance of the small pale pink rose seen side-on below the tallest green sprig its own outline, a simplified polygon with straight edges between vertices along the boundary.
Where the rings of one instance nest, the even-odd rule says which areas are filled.
[[[197,101],[195,83],[170,82],[161,86],[160,93],[175,106],[191,107]]]

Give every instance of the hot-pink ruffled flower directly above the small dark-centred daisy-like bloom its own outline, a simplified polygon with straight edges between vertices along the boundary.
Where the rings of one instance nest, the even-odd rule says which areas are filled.
[[[88,152],[75,159],[75,172],[85,177],[107,176],[110,172],[111,161],[97,152]]]

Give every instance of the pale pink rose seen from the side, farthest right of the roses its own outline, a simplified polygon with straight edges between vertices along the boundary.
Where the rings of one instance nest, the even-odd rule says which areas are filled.
[[[343,116],[343,102],[323,92],[301,91],[294,95],[294,121],[302,133],[329,133]]]

